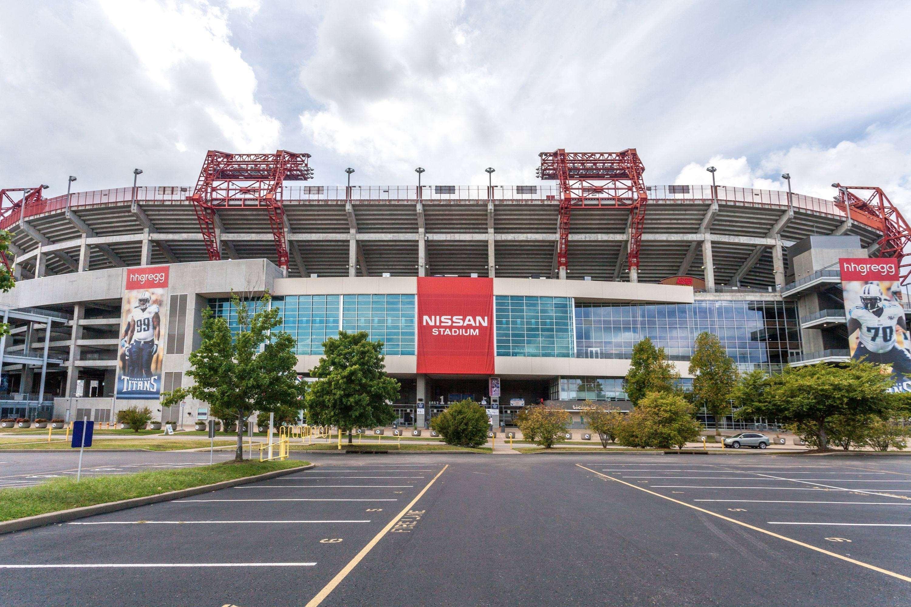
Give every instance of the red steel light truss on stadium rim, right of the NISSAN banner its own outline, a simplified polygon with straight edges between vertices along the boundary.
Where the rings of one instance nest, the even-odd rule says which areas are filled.
[[[537,176],[560,182],[557,263],[567,268],[569,211],[573,208],[629,208],[630,268],[639,268],[642,227],[645,224],[645,167],[634,148],[622,152],[541,152]]]

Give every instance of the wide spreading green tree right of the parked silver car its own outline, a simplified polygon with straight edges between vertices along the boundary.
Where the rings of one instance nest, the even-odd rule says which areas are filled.
[[[818,364],[786,368],[772,377],[749,374],[751,385],[735,390],[740,419],[764,417],[813,434],[820,450],[828,449],[827,424],[835,415],[882,416],[894,402],[886,390],[891,376],[879,365],[851,360],[844,366]]]

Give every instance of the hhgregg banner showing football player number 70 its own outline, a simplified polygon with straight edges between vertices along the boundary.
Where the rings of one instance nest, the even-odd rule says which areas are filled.
[[[911,390],[911,339],[897,260],[841,258],[838,266],[851,358],[888,365],[893,391]]]

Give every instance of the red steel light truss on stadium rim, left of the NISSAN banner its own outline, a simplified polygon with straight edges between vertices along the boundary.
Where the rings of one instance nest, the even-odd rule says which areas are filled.
[[[309,159],[309,154],[283,149],[275,154],[229,154],[218,150],[206,154],[196,188],[187,199],[193,203],[210,260],[221,258],[215,234],[217,209],[265,208],[279,267],[288,268],[282,182],[305,181],[313,177],[313,169],[307,166]]]

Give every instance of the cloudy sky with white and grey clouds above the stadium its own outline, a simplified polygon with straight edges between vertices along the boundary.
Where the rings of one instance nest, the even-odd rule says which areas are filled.
[[[208,149],[313,183],[535,183],[636,147],[650,184],[884,187],[911,209],[911,3],[0,0],[0,187],[189,185]]]

